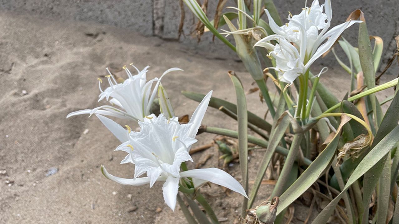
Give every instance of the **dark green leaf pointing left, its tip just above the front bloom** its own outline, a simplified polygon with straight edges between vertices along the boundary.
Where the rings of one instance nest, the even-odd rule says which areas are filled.
[[[204,98],[205,94],[200,94],[196,92],[189,92],[189,91],[182,91],[182,94],[186,96],[189,99],[195,100],[197,102],[201,102],[201,100]],[[231,110],[235,114],[237,114],[237,105],[232,104],[231,102],[227,102],[226,100],[222,100],[216,97],[211,97],[211,100],[209,101],[209,106],[219,109],[221,106]],[[248,122],[257,126],[258,128],[261,128],[267,132],[270,133],[271,131],[271,124],[269,124],[267,121],[263,120],[259,116],[251,113],[248,111]]]

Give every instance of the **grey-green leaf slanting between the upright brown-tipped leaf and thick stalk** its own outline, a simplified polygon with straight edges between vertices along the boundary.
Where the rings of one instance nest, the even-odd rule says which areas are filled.
[[[261,186],[262,179],[265,176],[265,172],[267,166],[269,165],[270,159],[273,156],[273,153],[277,145],[279,145],[282,136],[284,136],[284,132],[286,131],[286,129],[290,124],[290,119],[288,115],[286,114],[286,112],[283,112],[284,108],[285,108],[284,98],[280,97],[279,106],[277,108],[276,114],[282,114],[282,116],[280,116],[280,118],[275,117],[272,132],[270,134],[269,147],[267,147],[265,155],[263,156],[261,164],[259,165],[258,173],[255,178],[255,183],[249,195],[248,208],[251,208],[253,202],[255,201],[255,197],[258,193],[259,187]]]

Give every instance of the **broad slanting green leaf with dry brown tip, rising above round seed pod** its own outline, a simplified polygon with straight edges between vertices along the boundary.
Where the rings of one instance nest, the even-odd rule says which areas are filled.
[[[301,196],[312,184],[317,181],[320,175],[330,165],[332,158],[338,146],[339,136],[342,126],[346,124],[350,118],[344,117],[334,138],[328,143],[326,148],[318,155],[316,159],[309,165],[308,168],[299,176],[299,178],[289,187],[280,197],[279,210],[277,214],[284,208],[288,207],[296,198]],[[322,222],[320,222],[322,223]],[[325,222],[326,223],[326,222]]]

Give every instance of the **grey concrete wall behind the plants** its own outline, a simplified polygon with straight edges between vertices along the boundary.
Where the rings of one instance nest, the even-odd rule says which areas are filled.
[[[217,2],[209,0],[207,15],[210,19],[214,16]],[[310,2],[308,0],[308,5]],[[233,0],[227,3],[230,6],[234,4]],[[275,4],[283,19],[288,11],[293,14],[300,12],[304,0],[275,0]],[[399,34],[399,0],[332,0],[332,6],[333,26],[344,22],[350,12],[360,8],[365,13],[369,34],[379,35],[384,41],[383,64],[391,57],[396,47],[393,37]],[[211,51],[220,57],[233,55],[217,39],[213,42],[211,33],[205,33],[201,42],[197,43],[196,37],[190,35],[194,28],[194,18],[185,8],[184,35],[179,41],[199,53]],[[175,41],[178,40],[181,15],[179,0],[0,0],[2,11],[31,13],[52,19],[92,21]],[[345,31],[344,37],[357,45],[357,32],[358,26],[355,25]],[[344,55],[341,54],[341,57],[346,60]],[[337,66],[332,55],[328,55],[323,63]]]

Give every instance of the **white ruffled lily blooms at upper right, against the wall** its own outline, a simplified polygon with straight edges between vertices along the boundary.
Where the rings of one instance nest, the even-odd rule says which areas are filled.
[[[273,55],[276,59],[276,67],[272,69],[276,69],[280,80],[286,83],[292,83],[298,76],[304,74],[316,59],[332,47],[345,29],[362,22],[352,20],[328,30],[332,19],[331,0],[326,0],[323,5],[314,0],[312,6],[303,8],[300,14],[294,16],[290,14],[289,22],[283,26],[275,23],[268,10],[265,12],[270,28],[276,34],[261,39],[255,43],[255,46],[265,47],[271,51],[269,55]],[[279,44],[267,43],[271,40],[276,40]]]

